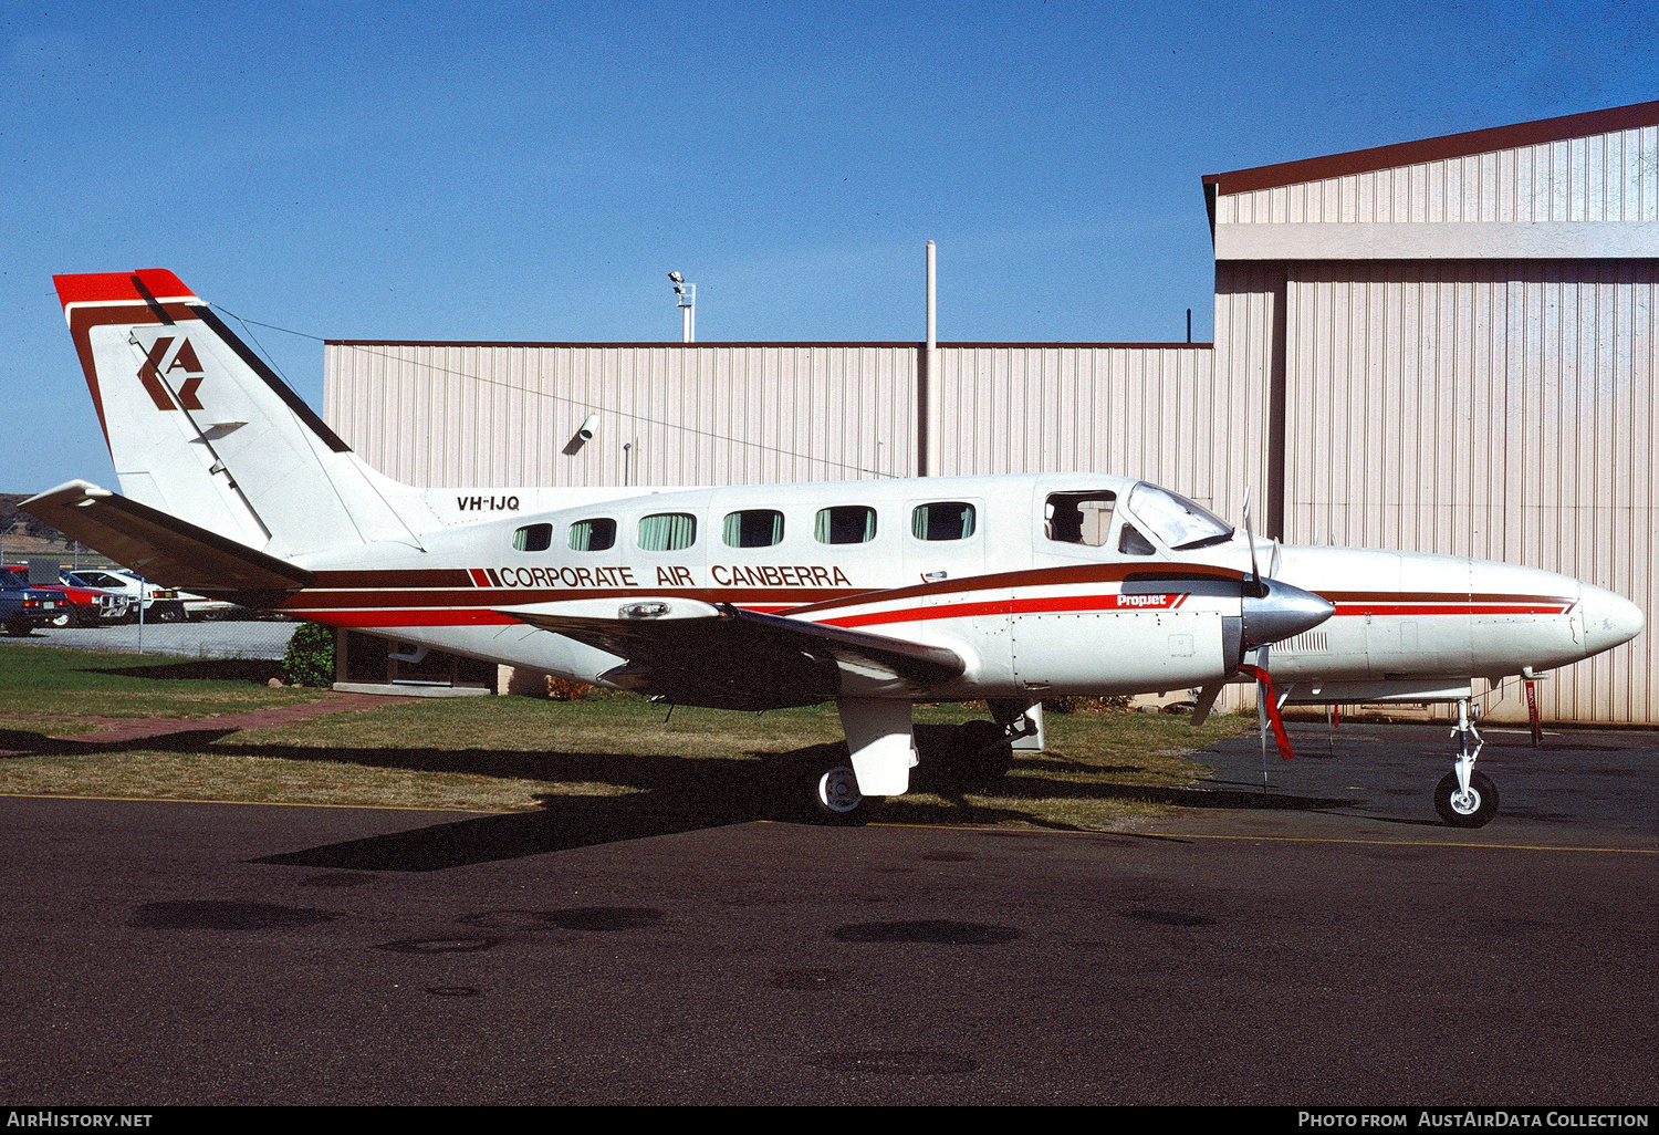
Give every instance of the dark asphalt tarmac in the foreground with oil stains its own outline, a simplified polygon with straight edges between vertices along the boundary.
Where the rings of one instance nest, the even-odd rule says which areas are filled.
[[[0,1102],[1659,1100],[1659,735],[1478,831],[1296,737],[1117,835],[0,798]]]

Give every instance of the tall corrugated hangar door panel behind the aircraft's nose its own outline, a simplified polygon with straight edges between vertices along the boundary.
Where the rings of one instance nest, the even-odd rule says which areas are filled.
[[[1286,538],[1659,577],[1659,264],[1292,264]],[[1659,636],[1540,687],[1556,720],[1659,720]],[[1508,709],[1520,712],[1510,699]]]

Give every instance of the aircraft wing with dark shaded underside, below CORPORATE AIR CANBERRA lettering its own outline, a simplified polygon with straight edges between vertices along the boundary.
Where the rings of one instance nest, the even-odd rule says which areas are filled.
[[[763,710],[836,697],[921,697],[967,669],[944,647],[723,602],[630,601],[617,616],[591,614],[587,604],[577,614],[572,606],[503,614],[617,655],[622,665],[601,677],[680,705]]]

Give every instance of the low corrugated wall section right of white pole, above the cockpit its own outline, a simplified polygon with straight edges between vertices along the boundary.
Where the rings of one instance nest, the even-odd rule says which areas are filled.
[[[1218,413],[1209,343],[939,347],[939,473],[1143,476],[1228,508],[1243,451]],[[1224,408],[1223,408],[1224,410]]]

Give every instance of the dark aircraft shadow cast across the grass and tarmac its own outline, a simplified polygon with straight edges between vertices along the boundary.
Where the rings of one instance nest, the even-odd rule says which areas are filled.
[[[473,863],[516,860],[574,848],[680,835],[755,820],[808,821],[808,782],[826,758],[844,760],[844,745],[813,745],[783,753],[750,753],[748,760],[659,757],[634,753],[549,753],[455,748],[317,748],[304,745],[217,745],[234,730],[201,728],[143,740],[78,742],[40,733],[0,730],[0,750],[20,753],[153,752],[204,757],[267,757],[292,762],[330,762],[375,768],[466,773],[546,782],[586,782],[620,788],[612,795],[541,795],[539,810],[484,815],[450,823],[428,823],[363,840],[289,851],[257,860],[302,868],[342,871],[438,871]],[[951,796],[919,775],[916,788],[934,788],[936,798],[889,801],[884,818],[906,823],[995,825],[1024,821],[1057,830],[1077,830],[1045,821],[1025,801],[1125,800],[1188,808],[1324,810],[1349,806],[1344,798],[1261,793],[1233,788],[1180,788],[1131,783],[1080,783],[1055,775],[1112,768],[1082,762],[1045,760],[1017,763],[1007,777],[974,801]],[[1117,772],[1130,772],[1130,767]],[[1035,775],[1034,775],[1035,773]]]

